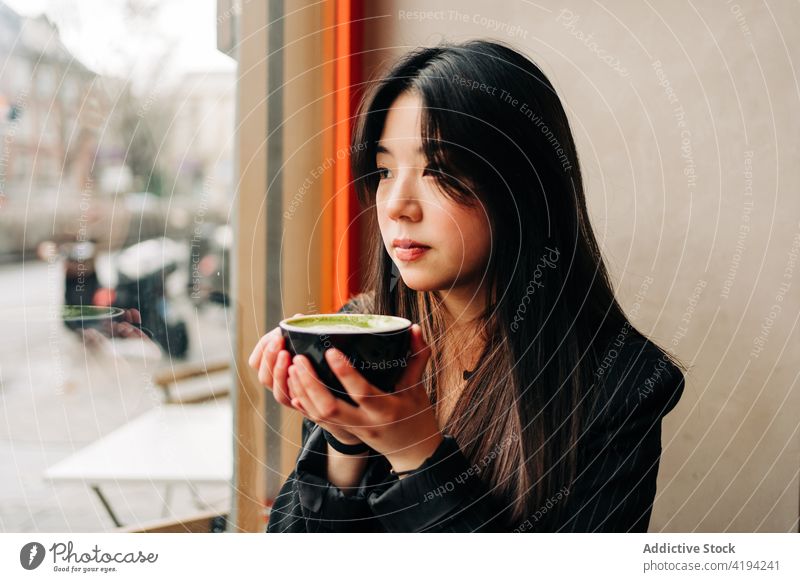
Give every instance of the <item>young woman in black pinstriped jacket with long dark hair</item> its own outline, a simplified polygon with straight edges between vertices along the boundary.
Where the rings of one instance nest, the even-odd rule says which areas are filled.
[[[551,83],[495,42],[418,49],[353,140],[377,231],[343,310],[418,322],[413,357],[385,394],[326,353],[350,406],[259,341],[250,365],[306,417],[267,531],[646,531],[684,376],[615,300]]]

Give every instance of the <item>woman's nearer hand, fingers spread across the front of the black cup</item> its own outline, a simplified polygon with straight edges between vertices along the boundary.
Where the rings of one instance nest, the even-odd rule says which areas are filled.
[[[357,436],[384,455],[395,471],[416,469],[443,440],[422,382],[431,350],[417,324],[411,327],[411,354],[395,391],[388,393],[370,384],[340,351],[326,351],[333,373],[358,407],[336,398],[308,358],[295,356],[289,366],[292,406],[314,422],[339,425]]]

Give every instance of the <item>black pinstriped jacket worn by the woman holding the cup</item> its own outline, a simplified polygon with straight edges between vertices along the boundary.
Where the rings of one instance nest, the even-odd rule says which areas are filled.
[[[597,416],[580,441],[573,487],[514,527],[495,525],[501,512],[452,436],[445,435],[419,470],[402,480],[389,473],[385,457],[370,457],[357,491],[345,495],[326,478],[322,429],[303,419],[303,447],[274,500],[267,531],[542,531],[537,523],[554,504],[563,504],[551,531],[646,532],[661,419],[681,397],[683,374],[654,344],[631,333],[603,376]]]

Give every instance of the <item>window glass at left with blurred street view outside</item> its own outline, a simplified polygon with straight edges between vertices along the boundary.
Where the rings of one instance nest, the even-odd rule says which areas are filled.
[[[235,69],[216,4],[43,6],[0,1],[0,532],[223,514]]]

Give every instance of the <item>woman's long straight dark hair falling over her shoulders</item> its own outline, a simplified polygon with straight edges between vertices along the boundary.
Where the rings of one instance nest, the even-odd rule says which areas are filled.
[[[388,109],[408,91],[422,100],[423,150],[442,191],[482,203],[492,229],[485,348],[444,430],[484,469],[501,520],[518,524],[570,487],[600,352],[621,330],[638,332],[614,297],[592,232],[561,101],[542,71],[508,46],[420,48],[369,88],[351,150],[361,205],[374,208],[377,143]],[[360,308],[420,323],[433,347],[424,381],[435,403],[432,371],[443,364],[446,340],[438,295],[405,286],[373,233],[371,293]],[[557,519],[558,510],[548,515]]]

